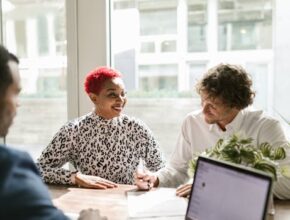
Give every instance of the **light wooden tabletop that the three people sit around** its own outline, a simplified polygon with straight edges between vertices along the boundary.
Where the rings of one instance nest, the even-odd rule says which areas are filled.
[[[83,209],[99,209],[101,215],[108,220],[125,220],[128,218],[126,191],[136,187],[119,185],[118,188],[94,190],[67,186],[49,185],[53,203],[56,207],[68,213],[79,213]],[[268,220],[289,220],[290,200],[275,200],[275,215]],[[176,219],[176,218],[175,218]],[[184,218],[180,218],[184,219]]]

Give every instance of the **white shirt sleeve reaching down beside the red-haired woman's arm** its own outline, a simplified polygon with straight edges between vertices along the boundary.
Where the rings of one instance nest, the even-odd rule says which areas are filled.
[[[177,187],[188,181],[188,163],[193,156],[193,149],[188,138],[191,129],[187,125],[190,126],[185,120],[169,163],[157,172],[159,186]]]

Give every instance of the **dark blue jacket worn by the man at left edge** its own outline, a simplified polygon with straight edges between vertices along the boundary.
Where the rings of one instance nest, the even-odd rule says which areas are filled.
[[[0,219],[68,219],[53,206],[31,157],[0,145]]]

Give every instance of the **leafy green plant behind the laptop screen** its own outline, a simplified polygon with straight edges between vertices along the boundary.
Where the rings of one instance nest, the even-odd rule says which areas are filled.
[[[278,163],[279,160],[286,158],[284,147],[274,148],[269,143],[262,143],[256,147],[252,141],[252,138],[239,138],[238,135],[233,135],[229,139],[219,139],[213,148],[205,150],[200,155],[264,171],[275,180],[278,172],[290,178],[290,168],[279,166]],[[198,155],[195,155],[189,162],[190,176],[194,174],[197,157]]]

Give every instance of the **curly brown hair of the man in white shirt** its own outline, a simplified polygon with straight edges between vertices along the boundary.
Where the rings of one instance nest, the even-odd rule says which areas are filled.
[[[252,84],[250,75],[241,66],[219,64],[208,70],[196,89],[199,94],[205,92],[210,98],[220,98],[231,108],[243,109],[253,103]]]

